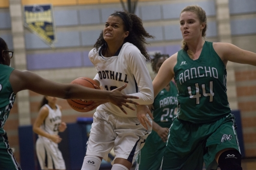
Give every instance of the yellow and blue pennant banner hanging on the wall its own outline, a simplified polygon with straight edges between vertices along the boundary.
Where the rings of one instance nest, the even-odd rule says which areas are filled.
[[[56,41],[52,5],[24,6],[24,26],[51,47]]]

